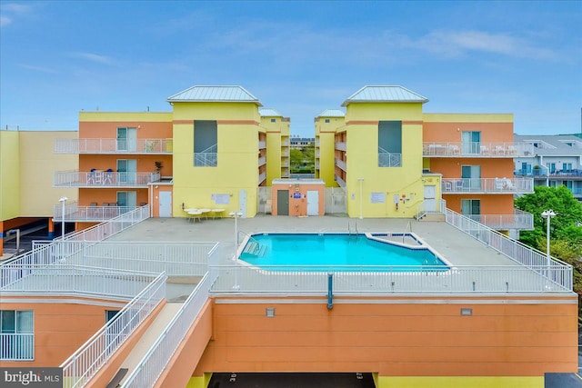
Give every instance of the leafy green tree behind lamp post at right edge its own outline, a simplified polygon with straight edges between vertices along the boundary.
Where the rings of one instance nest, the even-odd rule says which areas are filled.
[[[539,240],[546,240],[547,220],[542,212],[552,209],[557,216],[550,222],[550,238],[563,239],[574,244],[582,239],[582,204],[566,186],[534,187],[534,194],[526,194],[516,200],[516,207],[534,214],[534,230],[522,231],[520,239],[529,246],[537,246]]]

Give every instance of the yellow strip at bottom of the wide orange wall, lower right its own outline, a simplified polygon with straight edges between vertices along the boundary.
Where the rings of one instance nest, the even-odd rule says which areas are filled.
[[[378,376],[376,388],[544,388],[543,376]]]

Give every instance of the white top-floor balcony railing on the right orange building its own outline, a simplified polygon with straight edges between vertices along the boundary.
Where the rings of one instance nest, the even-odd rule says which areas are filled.
[[[517,157],[533,156],[530,143],[432,142],[422,144],[422,155],[430,157]]]

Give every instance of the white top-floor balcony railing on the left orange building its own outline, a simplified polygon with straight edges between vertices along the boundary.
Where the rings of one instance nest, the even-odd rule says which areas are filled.
[[[56,139],[55,154],[172,154],[173,139]]]

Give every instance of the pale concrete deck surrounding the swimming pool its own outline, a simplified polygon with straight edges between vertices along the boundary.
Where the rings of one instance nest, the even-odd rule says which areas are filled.
[[[365,218],[342,216],[288,217],[257,215],[239,218],[238,230],[245,234],[279,233],[402,233],[410,229],[453,265],[518,265],[505,255],[481,244],[468,234],[445,222],[418,222],[414,219]],[[240,236],[242,241],[243,236]],[[149,218],[109,238],[115,241],[218,242],[221,262],[234,252],[235,222],[232,218],[188,222],[186,218]],[[232,264],[232,262],[230,262]]]

